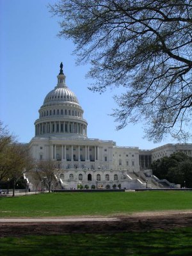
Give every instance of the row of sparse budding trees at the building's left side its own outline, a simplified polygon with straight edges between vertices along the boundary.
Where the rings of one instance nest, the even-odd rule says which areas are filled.
[[[50,192],[58,170],[56,161],[36,162],[31,157],[28,145],[17,143],[15,136],[0,122],[0,182],[12,184],[13,196],[16,184],[29,172],[35,180],[35,186],[44,181],[44,186]]]

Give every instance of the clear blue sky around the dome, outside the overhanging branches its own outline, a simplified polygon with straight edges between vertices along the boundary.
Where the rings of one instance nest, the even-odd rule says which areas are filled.
[[[84,109],[88,138],[113,140],[124,147],[155,148],[143,139],[142,124],[128,125],[116,131],[112,116],[113,92],[90,92],[85,79],[89,66],[76,65],[74,45],[57,37],[58,17],[52,17],[47,5],[56,0],[0,0],[0,120],[20,142],[29,142],[35,133],[34,122],[44,98],[57,83],[63,62],[67,86]],[[190,142],[190,141],[189,141]]]

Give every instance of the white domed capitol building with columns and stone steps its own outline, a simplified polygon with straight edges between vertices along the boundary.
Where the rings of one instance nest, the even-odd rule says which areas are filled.
[[[192,156],[192,144],[167,144],[152,150],[117,147],[115,141],[87,137],[88,123],[74,92],[68,88],[63,64],[58,83],[45,96],[35,120],[35,136],[29,143],[34,159],[58,162],[60,188],[157,188],[150,164],[174,152]],[[150,178],[149,178],[150,177]],[[33,182],[32,182],[33,183]],[[161,186],[160,186],[161,187]]]

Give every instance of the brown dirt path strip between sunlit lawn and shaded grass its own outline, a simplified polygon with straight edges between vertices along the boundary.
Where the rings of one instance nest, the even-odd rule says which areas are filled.
[[[118,216],[0,219],[0,237],[67,233],[113,233],[192,227],[192,211],[134,212]]]

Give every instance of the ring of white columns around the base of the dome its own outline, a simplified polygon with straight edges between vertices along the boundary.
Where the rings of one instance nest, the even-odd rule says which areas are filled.
[[[55,121],[55,122],[42,122],[35,125],[35,135],[41,135],[46,133],[56,133],[56,132],[67,132],[67,133],[77,133],[87,135],[87,127],[79,122],[65,122],[65,121]]]

